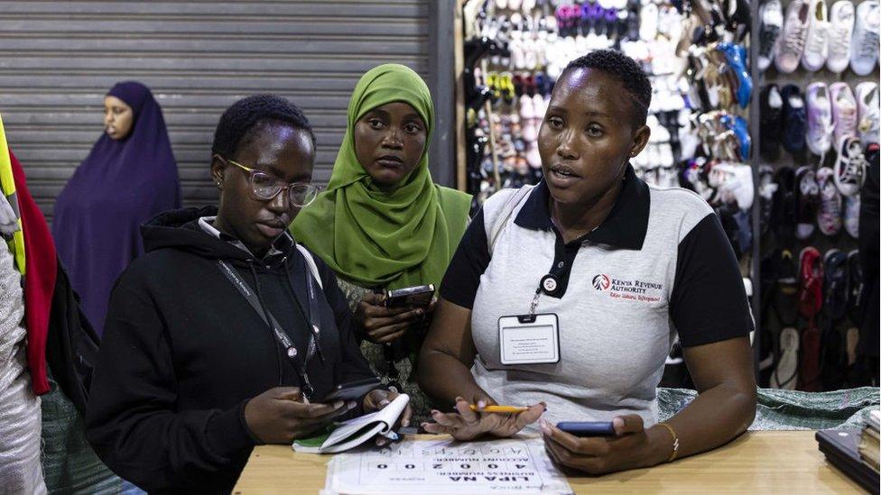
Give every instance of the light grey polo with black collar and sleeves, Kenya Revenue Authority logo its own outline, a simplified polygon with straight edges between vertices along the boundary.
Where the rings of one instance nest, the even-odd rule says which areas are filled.
[[[682,188],[654,188],[628,167],[607,219],[563,243],[550,192],[539,183],[498,232],[506,199],[490,197],[471,222],[440,286],[469,307],[478,385],[501,404],[544,401],[549,421],[603,421],[639,414],[658,420],[656,388],[676,336],[685,347],[749,335],[753,322],[737,259],[719,218]],[[558,289],[536,313],[554,313],[560,362],[503,365],[498,318],[524,315],[540,280]]]

